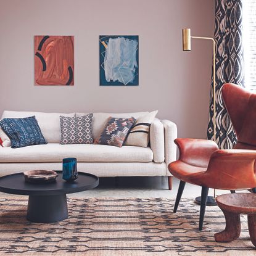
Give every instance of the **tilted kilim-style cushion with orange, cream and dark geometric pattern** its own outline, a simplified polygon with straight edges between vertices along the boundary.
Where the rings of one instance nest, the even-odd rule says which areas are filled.
[[[94,141],[94,144],[103,144],[122,147],[135,118],[109,117],[101,136]]]

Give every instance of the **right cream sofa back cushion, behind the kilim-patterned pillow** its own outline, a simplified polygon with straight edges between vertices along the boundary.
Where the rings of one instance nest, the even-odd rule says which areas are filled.
[[[105,125],[107,125],[107,120],[109,117],[123,117],[123,118],[130,118],[134,117],[137,119],[141,117],[141,115],[146,115],[149,112],[134,112],[134,113],[93,113],[93,137],[98,138]],[[87,115],[88,113],[76,113],[76,117],[81,117],[83,115]]]

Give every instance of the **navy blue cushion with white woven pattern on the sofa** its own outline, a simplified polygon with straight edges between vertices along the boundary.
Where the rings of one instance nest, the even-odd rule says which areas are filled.
[[[12,148],[47,144],[36,117],[4,118],[0,126],[12,142]]]

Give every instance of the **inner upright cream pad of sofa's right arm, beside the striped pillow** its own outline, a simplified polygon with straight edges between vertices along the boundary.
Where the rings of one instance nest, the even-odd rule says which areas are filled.
[[[165,136],[163,124],[159,119],[155,118],[151,123],[149,136],[153,151],[153,161],[155,163],[163,163],[165,160]]]

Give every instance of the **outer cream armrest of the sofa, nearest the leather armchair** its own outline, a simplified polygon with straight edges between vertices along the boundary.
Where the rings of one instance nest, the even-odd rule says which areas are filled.
[[[165,131],[165,162],[167,165],[176,160],[176,144],[174,140],[177,138],[177,126],[169,120],[161,120]]]

